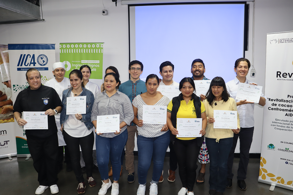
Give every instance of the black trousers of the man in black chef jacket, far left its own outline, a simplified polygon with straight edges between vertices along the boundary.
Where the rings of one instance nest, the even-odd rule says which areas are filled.
[[[30,155],[33,158],[34,168],[38,172],[39,184],[42,186],[57,184],[57,132],[45,138],[27,134],[26,138]]]

